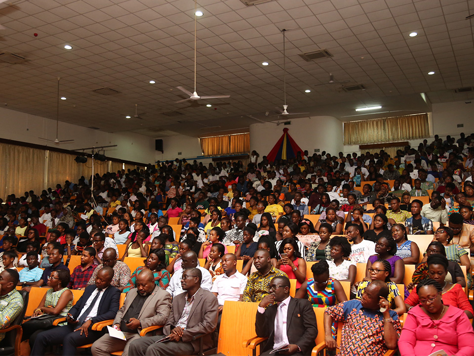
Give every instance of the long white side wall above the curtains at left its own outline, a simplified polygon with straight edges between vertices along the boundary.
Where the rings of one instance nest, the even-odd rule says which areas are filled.
[[[74,139],[75,141],[55,144],[39,138],[52,140],[56,138],[55,120],[5,108],[0,108],[0,125],[0,137],[5,139],[68,150],[117,144],[117,147],[106,148],[105,155],[140,163],[154,163],[155,161],[155,139],[141,134],[106,133],[60,122],[59,139]]]

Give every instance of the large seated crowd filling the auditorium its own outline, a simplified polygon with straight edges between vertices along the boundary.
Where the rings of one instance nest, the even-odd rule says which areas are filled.
[[[435,135],[394,157],[253,151],[246,165],[176,159],[11,194],[1,328],[26,308],[21,290],[47,288],[21,324],[30,355],[193,355],[241,301],[258,303],[261,355],[310,355],[323,333],[346,356],[472,356],[473,160],[474,134]]]

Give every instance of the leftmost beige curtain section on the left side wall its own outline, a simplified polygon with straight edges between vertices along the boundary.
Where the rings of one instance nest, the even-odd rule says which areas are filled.
[[[40,195],[46,188],[45,160],[44,150],[0,143],[0,197],[5,200],[12,193],[23,196],[30,190]]]

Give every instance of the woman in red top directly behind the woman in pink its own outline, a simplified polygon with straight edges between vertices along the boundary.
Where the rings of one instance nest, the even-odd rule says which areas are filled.
[[[469,303],[463,288],[457,283],[449,283],[445,280],[448,272],[448,260],[442,255],[431,255],[428,257],[428,273],[430,279],[435,280],[442,287],[441,295],[445,305],[462,309],[468,318],[472,318],[474,311]],[[410,311],[420,303],[417,289],[414,289],[405,299],[405,306]]]

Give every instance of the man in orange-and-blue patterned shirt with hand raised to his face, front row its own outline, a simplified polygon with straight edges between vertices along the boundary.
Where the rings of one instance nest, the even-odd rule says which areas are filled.
[[[324,312],[326,347],[336,348],[331,325],[344,321],[341,355],[384,355],[388,349],[395,350],[401,326],[396,312],[390,310],[388,296],[389,287],[375,280],[365,288],[361,300],[328,307]]]

